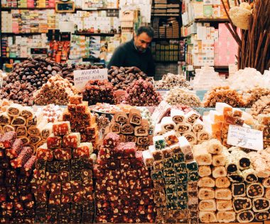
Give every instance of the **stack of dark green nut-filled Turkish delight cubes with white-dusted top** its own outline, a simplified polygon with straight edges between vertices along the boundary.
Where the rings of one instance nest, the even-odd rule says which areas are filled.
[[[175,131],[153,137],[144,151],[151,167],[156,223],[198,223],[198,164],[185,137]]]

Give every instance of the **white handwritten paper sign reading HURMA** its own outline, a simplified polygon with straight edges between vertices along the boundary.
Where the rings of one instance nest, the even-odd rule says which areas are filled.
[[[74,86],[79,91],[82,91],[89,80],[108,79],[108,69],[75,70],[73,74]]]

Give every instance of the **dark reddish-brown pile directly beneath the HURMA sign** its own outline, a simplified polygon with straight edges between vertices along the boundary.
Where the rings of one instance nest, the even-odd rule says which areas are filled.
[[[82,91],[83,100],[88,101],[89,105],[96,103],[115,104],[116,98],[113,88],[107,80],[90,80]]]

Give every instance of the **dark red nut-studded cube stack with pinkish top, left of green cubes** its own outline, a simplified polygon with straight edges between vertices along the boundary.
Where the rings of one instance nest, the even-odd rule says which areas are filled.
[[[108,133],[94,169],[97,223],[153,223],[153,184],[135,142]]]

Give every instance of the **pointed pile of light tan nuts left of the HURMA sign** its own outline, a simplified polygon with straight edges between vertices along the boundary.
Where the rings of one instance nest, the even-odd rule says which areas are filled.
[[[35,92],[34,103],[40,106],[51,103],[55,105],[68,105],[69,96],[77,93],[78,91],[68,82],[68,79],[63,79],[57,74]]]

